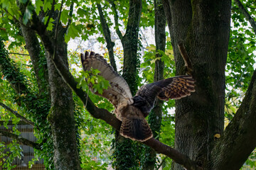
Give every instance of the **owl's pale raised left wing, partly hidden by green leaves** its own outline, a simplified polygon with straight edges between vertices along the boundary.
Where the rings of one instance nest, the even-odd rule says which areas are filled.
[[[80,57],[84,71],[90,71],[91,68],[98,69],[100,71],[99,75],[110,83],[110,87],[104,89],[102,94],[97,93],[97,91],[92,91],[93,93],[107,98],[116,108],[122,101],[132,98],[127,81],[115,72],[113,67],[101,55],[86,51]]]

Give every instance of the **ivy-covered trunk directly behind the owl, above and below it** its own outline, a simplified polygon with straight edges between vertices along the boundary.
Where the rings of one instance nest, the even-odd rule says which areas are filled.
[[[129,18],[124,36],[119,35],[124,48],[124,67],[122,77],[127,81],[132,95],[137,91],[137,49],[139,37],[139,21],[142,13],[142,1],[129,1]],[[136,169],[139,150],[132,140],[122,137],[116,131],[114,141],[114,166],[115,169]]]

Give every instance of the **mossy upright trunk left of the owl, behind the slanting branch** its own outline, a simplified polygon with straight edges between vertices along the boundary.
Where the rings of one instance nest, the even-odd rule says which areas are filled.
[[[53,34],[39,33],[47,52],[47,65],[50,84],[51,108],[48,121],[53,132],[54,165],[55,169],[81,169],[75,133],[73,95],[69,86],[62,79],[52,62]],[[67,44],[63,30],[60,28],[57,36],[55,57],[62,59],[68,67]],[[52,44],[52,46],[48,46]]]

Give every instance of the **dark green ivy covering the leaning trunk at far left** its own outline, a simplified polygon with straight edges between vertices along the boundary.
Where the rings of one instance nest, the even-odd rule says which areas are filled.
[[[31,89],[27,88],[28,79],[25,79],[25,76],[20,73],[18,67],[11,61],[8,52],[5,50],[3,39],[0,40],[0,43],[1,72],[6,79],[11,80],[9,82],[13,84],[12,86],[20,85],[20,91],[16,91],[16,94],[13,92],[12,97],[16,98],[15,103],[27,113],[26,117],[35,123],[35,135],[38,139],[37,142],[41,144],[41,150],[37,150],[36,153],[44,159],[47,169],[54,169],[53,141],[51,139],[50,125],[46,120],[50,109],[48,94],[37,96],[38,91],[31,91]],[[43,67],[43,64],[46,63],[42,62],[41,64]]]

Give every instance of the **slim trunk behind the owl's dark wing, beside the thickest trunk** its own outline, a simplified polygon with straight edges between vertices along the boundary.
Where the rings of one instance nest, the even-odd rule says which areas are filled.
[[[156,58],[161,57],[158,50],[165,51],[166,46],[166,16],[164,14],[164,6],[161,0],[154,0],[155,8],[155,42],[156,42]],[[154,81],[159,81],[164,79],[164,62],[161,60],[156,60],[155,71],[154,71]],[[158,140],[159,132],[161,130],[161,120],[162,120],[162,107],[163,101],[157,100],[156,106],[149,113],[149,125],[153,132],[153,136]],[[157,137],[158,136],[158,137]],[[154,170],[156,164],[156,152],[150,147],[146,147],[146,162],[144,162],[143,169]]]

